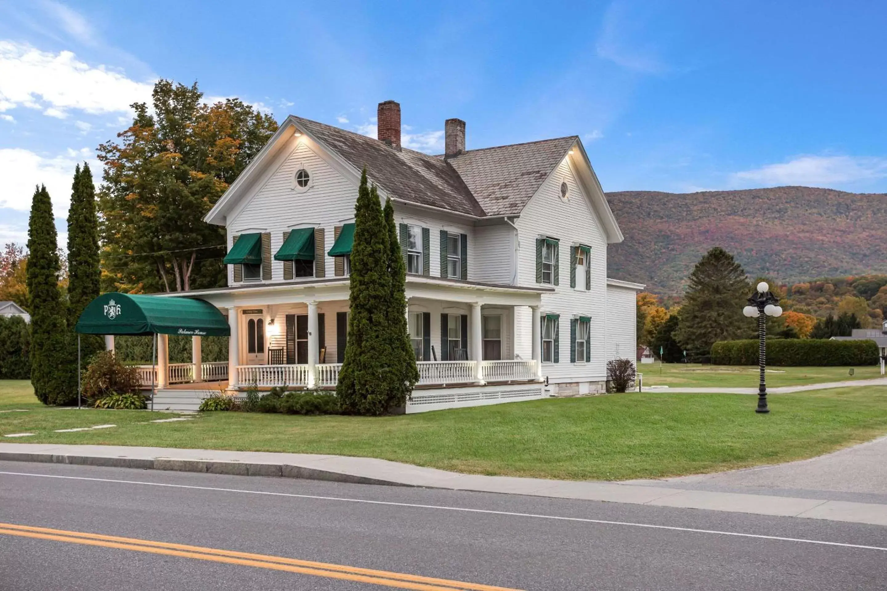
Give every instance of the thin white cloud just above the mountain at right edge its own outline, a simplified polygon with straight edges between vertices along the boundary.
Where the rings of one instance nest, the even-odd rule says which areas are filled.
[[[734,173],[735,183],[765,185],[832,185],[887,177],[887,158],[866,156],[797,156],[788,162],[768,164]]]

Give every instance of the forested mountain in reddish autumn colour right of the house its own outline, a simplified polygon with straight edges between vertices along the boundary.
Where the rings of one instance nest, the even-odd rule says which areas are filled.
[[[625,241],[608,248],[608,276],[683,292],[712,246],[750,276],[783,284],[887,273],[887,194],[812,187],[608,193]]]

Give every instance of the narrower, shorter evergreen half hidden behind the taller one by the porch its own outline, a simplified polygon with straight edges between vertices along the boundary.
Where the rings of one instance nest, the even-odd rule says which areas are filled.
[[[373,185],[371,191],[376,194]],[[389,235],[389,275],[391,276],[391,296],[389,297],[389,338],[391,342],[392,369],[400,372],[400,377],[392,381],[393,390],[389,406],[400,407],[412,393],[412,386],[419,381],[416,355],[410,343],[410,329],[406,321],[406,265],[397,239],[397,224],[394,221],[394,206],[391,199],[385,200],[385,226]]]

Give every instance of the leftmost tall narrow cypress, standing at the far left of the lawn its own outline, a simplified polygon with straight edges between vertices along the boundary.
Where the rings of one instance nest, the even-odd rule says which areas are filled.
[[[27,292],[31,311],[31,384],[43,404],[76,399],[70,379],[65,307],[59,293],[61,270],[52,202],[37,187],[27,225]]]

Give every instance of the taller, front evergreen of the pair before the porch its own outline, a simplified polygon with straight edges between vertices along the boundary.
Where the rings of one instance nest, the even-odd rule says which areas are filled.
[[[374,191],[370,191],[364,168],[351,247],[348,345],[336,388],[346,413],[381,415],[389,410],[389,384],[393,377],[388,361],[389,252],[381,203],[378,194],[374,196]]]

